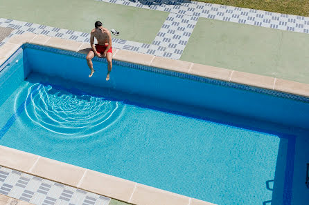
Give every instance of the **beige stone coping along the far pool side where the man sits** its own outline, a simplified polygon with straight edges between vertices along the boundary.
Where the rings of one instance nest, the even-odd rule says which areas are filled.
[[[24,43],[59,48],[62,50],[69,50],[84,54],[90,49],[89,43],[61,39],[58,37],[48,37],[46,35],[24,33],[22,35],[10,38],[8,43],[0,48],[0,65]],[[7,44],[8,46],[6,46]],[[113,49],[113,51],[113,59],[117,61],[124,61],[132,64],[140,64],[143,66],[171,70],[174,72],[182,72],[198,77],[206,77],[220,81],[242,84],[245,86],[254,86],[256,88],[276,90],[292,95],[309,97],[309,84],[303,84],[297,81],[289,81],[285,79],[267,77],[264,75],[256,75],[248,72],[240,72],[237,70],[229,70],[225,68],[195,64],[187,61],[156,57],[154,55],[142,54],[129,50]]]

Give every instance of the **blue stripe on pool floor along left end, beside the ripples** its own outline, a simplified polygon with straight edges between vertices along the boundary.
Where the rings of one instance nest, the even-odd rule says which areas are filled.
[[[40,87],[41,87],[41,85],[38,85],[37,88],[31,90],[30,96],[33,95],[33,94],[36,94],[36,92],[39,91]],[[3,128],[1,128],[0,139],[3,137],[3,135],[6,135],[6,133],[8,132],[10,127],[12,126],[12,124],[16,121],[17,117],[19,117],[19,115],[21,115],[21,113],[24,112],[24,110],[26,109],[26,106],[28,106],[29,103],[30,103],[30,97],[27,97],[27,99],[17,108],[16,112],[10,117],[10,119],[8,119],[8,121],[3,126]]]

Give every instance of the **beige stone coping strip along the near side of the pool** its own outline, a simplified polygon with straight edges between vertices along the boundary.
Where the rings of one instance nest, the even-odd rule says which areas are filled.
[[[6,146],[0,146],[0,165],[129,204],[215,205]]]

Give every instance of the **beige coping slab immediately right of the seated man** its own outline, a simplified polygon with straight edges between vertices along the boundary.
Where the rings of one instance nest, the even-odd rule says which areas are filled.
[[[132,64],[141,64],[144,66],[149,66],[150,61],[152,61],[153,56],[149,54],[143,54],[138,52],[133,52],[130,50],[119,50],[114,56],[115,60],[125,61]]]

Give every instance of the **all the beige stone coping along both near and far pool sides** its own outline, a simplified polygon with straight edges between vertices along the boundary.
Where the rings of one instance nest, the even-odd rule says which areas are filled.
[[[8,43],[0,48],[0,65],[6,61],[24,43],[36,44],[39,46],[49,46],[70,50],[73,52],[86,53],[89,43],[81,43],[58,37],[48,37],[46,35],[35,35],[24,33],[12,37]],[[221,81],[229,81],[246,86],[266,88],[279,92],[288,92],[293,95],[309,97],[309,84],[301,84],[295,81],[276,79],[263,75],[255,75],[247,72],[228,70],[213,66],[204,66],[191,62],[155,57],[153,55],[141,54],[127,50],[113,50],[113,59],[125,61],[132,64],[141,64],[164,70],[182,72],[188,75],[196,75]],[[1,71],[1,70],[0,70]],[[85,191],[97,193],[118,199],[123,202],[136,205],[210,205],[184,195],[171,193],[151,186],[145,186],[112,175],[98,173],[94,170],[73,166],[64,162],[58,162],[39,155],[33,155],[15,150],[6,146],[0,146],[0,165],[15,170],[19,170],[30,175],[43,177],[55,182],[67,184]],[[104,186],[102,186],[104,184]]]

